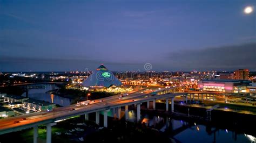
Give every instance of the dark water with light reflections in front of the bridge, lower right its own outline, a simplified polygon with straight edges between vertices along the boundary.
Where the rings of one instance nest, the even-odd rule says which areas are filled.
[[[136,121],[136,119],[136,112],[129,111],[129,120]],[[237,134],[227,129],[188,123],[171,117],[142,115],[142,123],[166,132],[176,142],[256,142],[256,138],[252,135]]]

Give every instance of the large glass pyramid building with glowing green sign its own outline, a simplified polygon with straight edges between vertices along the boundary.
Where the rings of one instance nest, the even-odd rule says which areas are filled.
[[[82,83],[84,87],[106,87],[109,88],[112,85],[119,87],[122,82],[118,80],[116,76],[105,66],[100,65],[86,80]]]

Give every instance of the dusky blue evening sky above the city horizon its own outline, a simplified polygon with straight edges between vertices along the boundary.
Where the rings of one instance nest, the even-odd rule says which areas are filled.
[[[256,70],[255,2],[0,0],[0,71]]]

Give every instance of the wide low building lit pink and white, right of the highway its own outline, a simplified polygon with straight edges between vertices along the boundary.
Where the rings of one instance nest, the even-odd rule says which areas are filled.
[[[241,93],[248,92],[247,86],[250,83],[246,80],[202,80],[198,81],[198,88],[204,91]]]

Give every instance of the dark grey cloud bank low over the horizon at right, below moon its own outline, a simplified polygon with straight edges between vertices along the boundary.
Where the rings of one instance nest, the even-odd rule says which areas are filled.
[[[170,66],[185,70],[256,70],[256,43],[194,49],[167,55]]]

